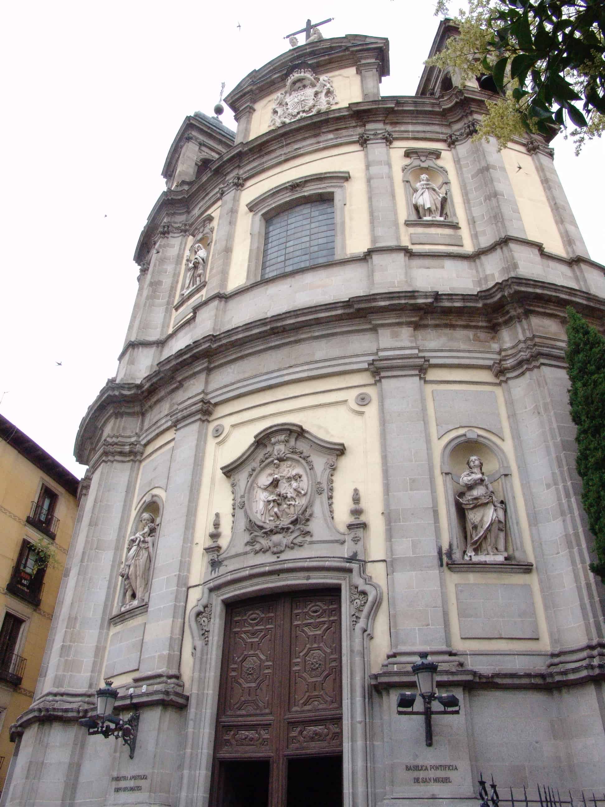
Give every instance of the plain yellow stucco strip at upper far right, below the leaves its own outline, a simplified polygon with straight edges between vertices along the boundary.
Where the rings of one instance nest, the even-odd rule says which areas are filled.
[[[553,211],[532,157],[515,144],[509,144],[501,153],[528,238],[541,241],[549,252],[565,255]]]

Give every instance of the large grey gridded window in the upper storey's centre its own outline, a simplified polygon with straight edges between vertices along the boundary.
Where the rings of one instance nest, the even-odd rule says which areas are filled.
[[[334,254],[333,199],[298,204],[266,221],[261,279],[332,261]]]

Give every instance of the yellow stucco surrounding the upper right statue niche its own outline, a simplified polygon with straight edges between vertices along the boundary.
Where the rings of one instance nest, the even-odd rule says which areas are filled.
[[[436,148],[441,152],[441,156],[438,160],[436,160],[437,165],[443,165],[444,169],[447,170],[449,175],[449,181],[452,183],[452,196],[453,196],[453,203],[454,207],[456,208],[456,215],[458,224],[460,225],[459,230],[453,230],[449,227],[432,227],[430,230],[426,228],[417,227],[414,228],[413,225],[406,226],[404,222],[406,220],[410,220],[412,216],[410,212],[407,210],[407,202],[406,202],[406,191],[405,186],[403,184],[403,168],[411,161],[410,157],[404,157],[403,153],[406,148]],[[458,175],[456,171],[456,165],[453,161],[452,152],[448,148],[444,148],[444,144],[442,142],[432,142],[432,140],[425,140],[425,141],[418,141],[418,140],[410,140],[407,143],[405,140],[395,140],[394,143],[391,145],[389,149],[390,153],[390,164],[391,170],[393,171],[393,182],[395,188],[395,202],[397,203],[397,213],[399,218],[399,227],[401,232],[401,243],[406,246],[411,245],[410,240],[410,233],[411,232],[430,232],[430,233],[444,233],[447,235],[451,235],[452,233],[457,233],[462,236],[462,246],[450,246],[448,245],[447,249],[452,250],[472,250],[473,249],[473,240],[470,237],[470,230],[469,230],[469,222],[466,219],[465,213],[465,204],[464,199],[462,198],[462,192],[460,189],[460,182],[458,182]],[[413,245],[415,249],[435,249],[434,245],[422,245],[422,244],[415,244]]]

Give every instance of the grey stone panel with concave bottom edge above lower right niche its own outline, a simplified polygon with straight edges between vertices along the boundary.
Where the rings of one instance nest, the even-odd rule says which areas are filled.
[[[495,392],[491,390],[433,390],[437,437],[458,426],[487,429],[504,438]]]

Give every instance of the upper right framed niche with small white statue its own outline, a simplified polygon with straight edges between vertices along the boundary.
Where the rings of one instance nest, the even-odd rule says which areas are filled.
[[[437,161],[441,152],[436,148],[406,148],[403,165],[403,185],[406,191],[406,224],[428,226],[457,226],[451,182],[447,169]]]

